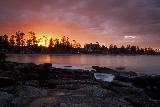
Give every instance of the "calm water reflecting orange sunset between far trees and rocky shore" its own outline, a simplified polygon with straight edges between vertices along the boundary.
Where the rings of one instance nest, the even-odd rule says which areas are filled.
[[[160,56],[121,56],[121,55],[53,55],[53,54],[11,54],[9,61],[23,63],[52,63],[54,66],[88,67],[93,65],[115,69],[125,67],[126,71],[147,74],[160,74]]]

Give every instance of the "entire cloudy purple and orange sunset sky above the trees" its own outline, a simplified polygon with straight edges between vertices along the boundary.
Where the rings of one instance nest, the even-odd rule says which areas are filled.
[[[160,0],[0,0],[0,34],[18,30],[160,48]]]

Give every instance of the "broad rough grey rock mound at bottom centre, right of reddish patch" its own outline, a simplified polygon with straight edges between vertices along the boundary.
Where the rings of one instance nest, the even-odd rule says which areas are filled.
[[[123,96],[117,96],[114,92],[97,85],[85,85],[67,92],[69,94],[46,103],[44,107],[125,107],[130,104]]]

